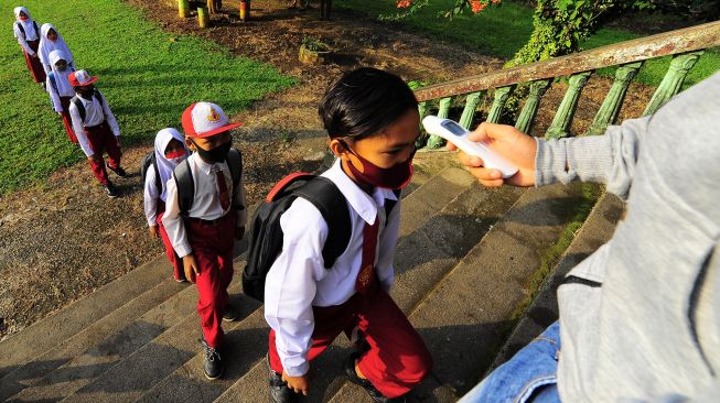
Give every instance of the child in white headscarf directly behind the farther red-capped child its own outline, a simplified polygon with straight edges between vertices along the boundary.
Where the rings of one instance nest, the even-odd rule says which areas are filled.
[[[69,102],[75,96],[75,90],[67,78],[75,69],[67,63],[67,55],[63,51],[50,53],[50,62],[53,68],[47,73],[47,94],[53,101],[53,108],[63,119],[63,126],[69,141],[77,143],[77,137],[73,131],[73,122],[69,117]]]

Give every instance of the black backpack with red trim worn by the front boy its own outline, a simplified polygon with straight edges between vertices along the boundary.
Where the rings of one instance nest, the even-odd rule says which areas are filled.
[[[399,196],[399,190],[396,192]],[[264,203],[255,211],[249,228],[247,264],[243,270],[243,292],[260,302],[265,301],[265,279],[282,250],[280,217],[295,198],[312,203],[325,222],[327,239],[322,249],[323,261],[330,270],[335,260],[345,252],[352,224],[347,202],[335,184],[326,177],[308,173],[294,173],[275,185]],[[386,217],[389,217],[396,200],[385,200]]]

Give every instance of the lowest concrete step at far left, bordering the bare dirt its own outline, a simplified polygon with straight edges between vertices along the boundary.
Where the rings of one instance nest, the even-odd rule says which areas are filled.
[[[0,378],[24,366],[170,275],[163,257],[152,260],[55,314],[0,341]]]

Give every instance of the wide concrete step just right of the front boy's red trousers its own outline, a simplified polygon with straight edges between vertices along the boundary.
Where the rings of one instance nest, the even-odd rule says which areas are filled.
[[[529,280],[583,199],[582,185],[527,189],[409,316],[434,358],[419,401],[452,402],[479,381],[527,303]],[[364,401],[345,383],[331,402]]]

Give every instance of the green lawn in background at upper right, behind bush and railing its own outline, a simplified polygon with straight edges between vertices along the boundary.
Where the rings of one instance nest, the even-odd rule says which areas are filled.
[[[397,12],[396,0],[338,0],[340,9],[366,13],[372,17],[394,14]],[[450,41],[469,50],[509,59],[528,40],[533,32],[533,9],[503,1],[502,7],[488,8],[477,15],[458,15],[452,20],[438,17],[440,11],[449,8],[450,1],[430,1],[416,15],[401,21],[411,31]],[[584,48],[609,45],[628,41],[641,35],[612,29],[600,30],[584,44]],[[653,59],[645,64],[637,75],[637,80],[656,86],[663,79],[669,65],[669,57]],[[720,69],[720,52],[706,52],[695,68],[688,74],[685,86],[696,84]],[[601,74],[610,74],[605,69]]]

